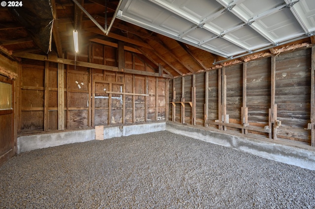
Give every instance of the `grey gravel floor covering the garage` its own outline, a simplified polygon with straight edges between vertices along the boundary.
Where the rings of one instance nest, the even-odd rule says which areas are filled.
[[[13,157],[0,208],[315,208],[315,171],[160,131]]]

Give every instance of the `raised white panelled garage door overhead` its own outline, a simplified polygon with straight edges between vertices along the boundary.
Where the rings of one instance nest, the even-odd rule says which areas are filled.
[[[118,18],[233,58],[315,31],[315,0],[123,0]]]

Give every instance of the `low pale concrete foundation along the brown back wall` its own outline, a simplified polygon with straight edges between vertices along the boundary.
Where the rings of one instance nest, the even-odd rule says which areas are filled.
[[[165,122],[104,127],[104,139],[165,130]],[[95,140],[95,129],[24,135],[17,138],[17,153],[91,140]]]

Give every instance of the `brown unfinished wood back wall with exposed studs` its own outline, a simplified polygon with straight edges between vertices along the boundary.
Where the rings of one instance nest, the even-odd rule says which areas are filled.
[[[119,65],[115,47],[91,44],[86,52],[66,58]],[[23,59],[19,132],[165,121],[166,79],[146,76],[154,70],[132,52],[123,60],[144,75]]]

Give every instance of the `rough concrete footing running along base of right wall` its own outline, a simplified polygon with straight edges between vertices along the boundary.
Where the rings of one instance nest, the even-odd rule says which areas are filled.
[[[290,147],[287,145],[247,137],[233,136],[230,134],[210,130],[208,131],[174,123],[167,123],[166,131],[230,147],[235,150],[278,162],[315,170],[315,151],[312,150]]]

